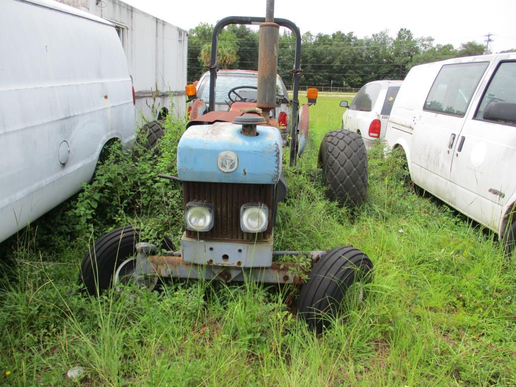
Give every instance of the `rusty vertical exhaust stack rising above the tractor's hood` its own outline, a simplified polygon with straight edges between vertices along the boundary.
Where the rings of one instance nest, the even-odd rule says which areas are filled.
[[[270,110],[276,108],[276,74],[280,26],[274,22],[274,0],[267,0],[265,23],[260,24],[258,51],[257,107],[269,122]]]

